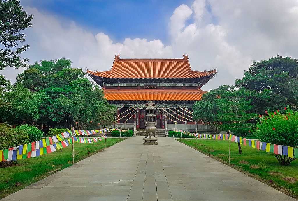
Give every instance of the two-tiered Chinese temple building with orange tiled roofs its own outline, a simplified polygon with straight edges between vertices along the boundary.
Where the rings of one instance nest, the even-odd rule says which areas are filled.
[[[215,69],[192,70],[188,55],[182,59],[120,59],[118,54],[114,59],[111,70],[87,70],[87,74],[103,88],[108,102],[117,106],[117,124],[145,128],[149,100],[157,109],[157,128],[197,124],[192,106],[206,93],[201,87],[215,76]]]

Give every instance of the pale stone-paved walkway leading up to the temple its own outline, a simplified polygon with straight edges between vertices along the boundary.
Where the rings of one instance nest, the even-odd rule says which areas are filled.
[[[4,200],[295,200],[172,138],[126,139]]]

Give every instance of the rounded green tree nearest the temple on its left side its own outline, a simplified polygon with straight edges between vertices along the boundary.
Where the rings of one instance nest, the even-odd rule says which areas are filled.
[[[111,125],[114,123],[116,107],[109,105],[104,98],[103,90],[97,86],[86,89],[84,92],[76,92],[66,97],[58,98],[63,114],[71,114],[77,122],[76,129],[84,130],[91,125]]]

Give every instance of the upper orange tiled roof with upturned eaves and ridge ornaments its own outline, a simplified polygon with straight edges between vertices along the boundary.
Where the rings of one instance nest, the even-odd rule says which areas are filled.
[[[103,78],[200,78],[216,74],[216,70],[191,70],[188,56],[183,59],[119,59],[115,61],[111,70],[92,71],[87,74]]]

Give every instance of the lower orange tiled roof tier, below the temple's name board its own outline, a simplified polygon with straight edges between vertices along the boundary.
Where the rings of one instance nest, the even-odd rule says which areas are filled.
[[[206,91],[197,89],[136,90],[104,89],[108,101],[198,101]]]

